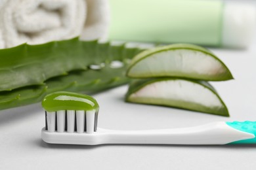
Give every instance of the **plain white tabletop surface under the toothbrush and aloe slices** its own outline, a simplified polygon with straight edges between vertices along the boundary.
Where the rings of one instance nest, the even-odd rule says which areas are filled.
[[[94,95],[99,127],[161,129],[214,121],[256,120],[256,43],[248,50],[211,50],[235,80],[214,82],[230,117],[123,102],[127,86]],[[0,111],[0,169],[256,169],[256,145],[73,146],[41,141],[44,113],[39,104]]]

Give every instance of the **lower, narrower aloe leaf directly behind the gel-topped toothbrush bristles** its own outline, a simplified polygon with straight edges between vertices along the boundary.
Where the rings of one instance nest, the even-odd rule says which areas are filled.
[[[126,67],[112,69],[106,65],[100,70],[72,71],[68,75],[51,78],[43,85],[27,86],[0,92],[0,110],[41,102],[48,93],[66,91],[96,93],[129,82]]]

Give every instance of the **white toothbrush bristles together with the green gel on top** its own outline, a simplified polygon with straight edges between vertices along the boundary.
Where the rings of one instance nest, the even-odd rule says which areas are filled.
[[[99,106],[93,97],[72,92],[54,92],[42,101],[45,130],[49,132],[93,133]]]

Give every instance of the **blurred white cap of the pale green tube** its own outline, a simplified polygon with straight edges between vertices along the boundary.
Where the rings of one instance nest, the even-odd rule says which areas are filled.
[[[223,14],[223,46],[246,48],[256,32],[256,7],[226,3]]]

